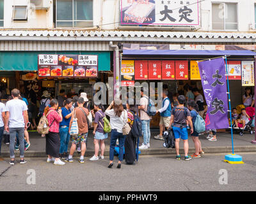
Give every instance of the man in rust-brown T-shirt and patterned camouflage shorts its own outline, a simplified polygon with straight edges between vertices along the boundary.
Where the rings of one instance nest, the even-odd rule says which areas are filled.
[[[74,112],[72,113],[72,118],[70,120],[69,131],[72,126],[72,122],[74,119],[74,115],[76,114],[77,118],[77,125],[78,125],[78,135],[72,137],[72,146],[70,148],[69,156],[65,159],[65,161],[73,162],[73,154],[76,150],[76,145],[81,142],[81,157],[79,159],[79,163],[84,163],[84,153],[86,151],[86,140],[88,136],[88,122],[87,122],[87,115],[89,115],[88,109],[83,107],[84,99],[79,98],[77,100],[77,108],[75,108]]]

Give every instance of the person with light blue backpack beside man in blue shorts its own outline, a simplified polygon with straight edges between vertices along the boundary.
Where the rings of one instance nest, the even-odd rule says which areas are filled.
[[[205,123],[199,121],[201,116],[198,114],[198,105],[195,103],[195,101],[193,99],[189,99],[188,108],[191,113],[191,119],[192,119],[193,129],[194,129],[194,132],[191,134],[191,136],[192,136],[193,142],[195,143],[195,150],[196,150],[195,154],[191,155],[191,157],[200,158],[204,154],[204,152],[201,147],[201,142],[199,140],[198,131],[203,131],[203,129],[205,130]],[[198,130],[196,127],[196,122],[200,122],[202,124],[202,126],[204,126],[204,127],[202,127],[201,130]]]

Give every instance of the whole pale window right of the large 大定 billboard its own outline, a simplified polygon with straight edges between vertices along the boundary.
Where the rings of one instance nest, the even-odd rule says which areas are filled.
[[[237,30],[237,3],[212,3],[212,30]]]

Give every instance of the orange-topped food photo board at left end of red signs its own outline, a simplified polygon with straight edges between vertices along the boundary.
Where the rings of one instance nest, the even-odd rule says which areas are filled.
[[[122,61],[121,85],[125,87],[134,86],[134,61]]]

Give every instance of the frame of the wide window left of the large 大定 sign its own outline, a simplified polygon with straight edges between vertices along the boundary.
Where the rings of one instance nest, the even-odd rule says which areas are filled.
[[[74,0],[70,0],[72,1],[72,20],[57,20],[58,18],[58,0],[55,0],[54,1],[54,4],[55,4],[55,19],[54,19],[54,23],[55,23],[55,27],[56,28],[69,28],[69,27],[58,27],[58,22],[72,22],[72,27],[70,28],[75,28],[74,27],[74,23],[76,22],[92,22],[92,26],[93,26],[93,15],[94,15],[94,12],[93,12],[93,3],[94,1],[92,0],[92,20],[74,20]],[[81,28],[81,27],[77,27],[77,28]]]

